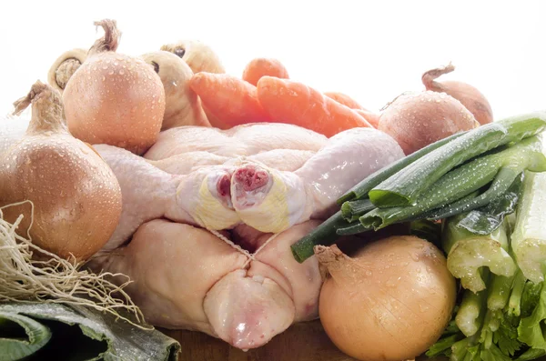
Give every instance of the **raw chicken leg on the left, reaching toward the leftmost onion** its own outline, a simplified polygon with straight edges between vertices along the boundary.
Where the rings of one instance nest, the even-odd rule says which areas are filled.
[[[123,245],[138,226],[157,218],[215,230],[240,223],[230,195],[235,165],[170,175],[125,149],[113,145],[94,147],[116,175],[123,203],[119,224],[104,250]]]

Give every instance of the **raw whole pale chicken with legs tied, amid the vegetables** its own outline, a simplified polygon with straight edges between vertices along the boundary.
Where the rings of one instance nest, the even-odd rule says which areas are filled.
[[[403,156],[376,129],[327,139],[284,124],[172,128],[144,156],[94,147],[120,183],[123,214],[89,265],[129,276],[147,322],[242,349],[318,317],[318,262],[298,264],[290,245]]]

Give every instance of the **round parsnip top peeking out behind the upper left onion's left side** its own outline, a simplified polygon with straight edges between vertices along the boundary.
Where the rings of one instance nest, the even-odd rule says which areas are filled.
[[[80,65],[84,64],[86,58],[86,49],[76,48],[63,53],[49,68],[47,83],[63,93],[68,80],[76,73]]]

